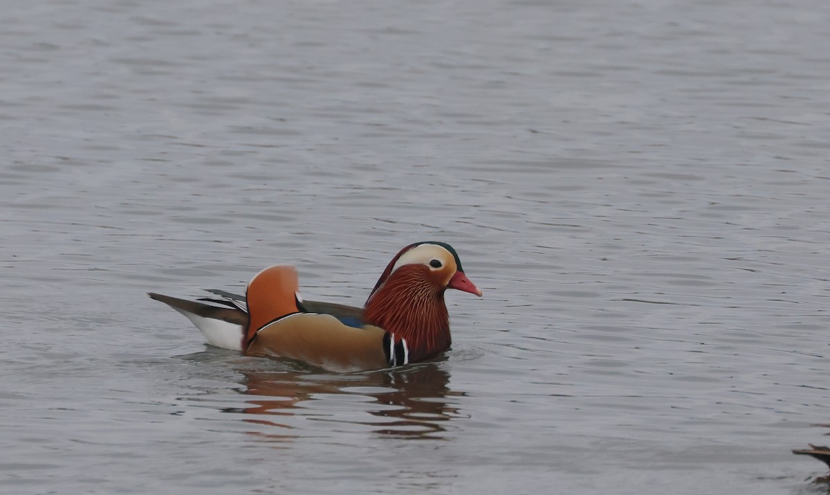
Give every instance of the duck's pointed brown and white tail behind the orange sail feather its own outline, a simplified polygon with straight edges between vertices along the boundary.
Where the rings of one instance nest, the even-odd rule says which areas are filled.
[[[227,302],[207,300],[222,304],[212,306],[154,292],[149,292],[148,296],[187,316],[205,336],[208,344],[223,349],[242,350],[242,337],[245,336],[248,326],[248,314],[239,307]]]

